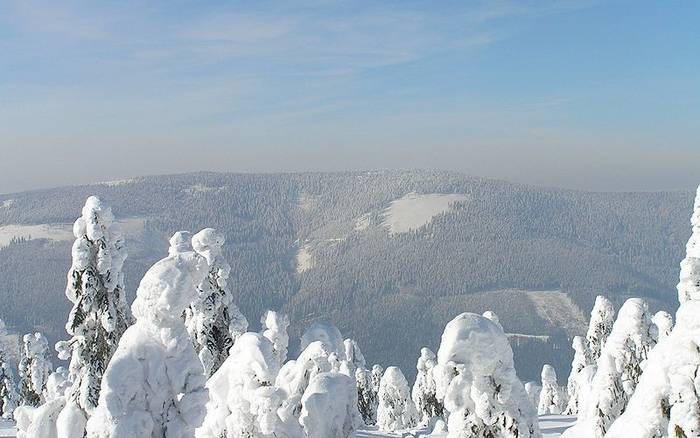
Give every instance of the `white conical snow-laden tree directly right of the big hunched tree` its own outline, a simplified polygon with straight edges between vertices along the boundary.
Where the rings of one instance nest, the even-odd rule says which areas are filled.
[[[239,336],[207,382],[207,413],[196,437],[301,438],[297,418],[281,409],[286,393],[273,386],[278,371],[270,340],[258,333]]]

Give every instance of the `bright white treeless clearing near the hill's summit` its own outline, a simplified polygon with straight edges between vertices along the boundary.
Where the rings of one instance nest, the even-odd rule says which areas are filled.
[[[462,194],[409,193],[403,198],[391,201],[384,211],[385,226],[391,234],[405,233],[427,225],[435,216],[448,211],[455,202],[468,200]]]

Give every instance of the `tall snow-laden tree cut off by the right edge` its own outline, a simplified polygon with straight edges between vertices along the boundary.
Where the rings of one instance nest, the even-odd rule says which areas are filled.
[[[700,187],[677,285],[676,325],[651,351],[644,373],[611,438],[700,434]]]

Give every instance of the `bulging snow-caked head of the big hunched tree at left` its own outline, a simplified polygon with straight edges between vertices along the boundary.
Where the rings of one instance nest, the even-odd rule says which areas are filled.
[[[206,259],[191,251],[158,261],[136,290],[131,311],[137,322],[156,327],[169,326],[169,321],[179,322],[194,297],[194,286],[202,282],[207,271]]]

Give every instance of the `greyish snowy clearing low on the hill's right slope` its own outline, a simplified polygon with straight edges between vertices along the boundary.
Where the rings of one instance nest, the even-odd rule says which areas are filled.
[[[571,335],[586,332],[587,318],[566,293],[553,291],[526,291],[537,307],[537,313],[556,327]]]

